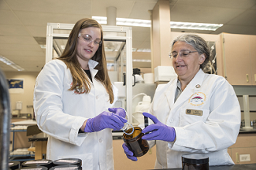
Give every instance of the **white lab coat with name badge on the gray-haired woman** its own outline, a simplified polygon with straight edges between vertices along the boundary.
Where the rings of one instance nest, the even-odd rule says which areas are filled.
[[[227,148],[236,142],[241,113],[233,87],[201,69],[174,103],[176,87],[177,79],[159,85],[150,106],[150,113],[176,131],[175,142],[150,142],[157,146],[155,168],[181,168],[186,153],[206,153],[210,165],[234,164]],[[202,116],[186,109],[200,110]]]

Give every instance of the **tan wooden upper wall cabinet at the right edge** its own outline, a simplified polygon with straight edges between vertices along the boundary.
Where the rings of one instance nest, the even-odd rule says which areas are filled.
[[[256,85],[256,35],[221,36],[224,77],[232,85]]]

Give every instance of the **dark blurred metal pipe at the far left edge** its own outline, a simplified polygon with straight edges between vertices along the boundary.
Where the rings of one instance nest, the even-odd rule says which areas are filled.
[[[0,169],[9,168],[10,104],[6,76],[0,69]]]

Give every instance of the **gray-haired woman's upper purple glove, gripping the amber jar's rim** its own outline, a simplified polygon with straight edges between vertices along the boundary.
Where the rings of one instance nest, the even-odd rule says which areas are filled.
[[[166,142],[173,142],[176,138],[176,132],[173,127],[169,127],[165,124],[162,124],[157,117],[151,115],[150,113],[143,113],[144,116],[149,117],[153,120],[154,124],[147,126],[141,131],[142,133],[149,134],[143,135],[142,139],[146,140],[163,140]]]

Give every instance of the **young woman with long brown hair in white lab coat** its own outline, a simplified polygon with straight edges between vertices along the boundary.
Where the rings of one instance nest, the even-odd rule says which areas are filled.
[[[97,21],[78,20],[61,57],[36,79],[35,117],[49,135],[47,159],[80,158],[83,169],[113,169],[112,129],[127,120],[124,109],[109,108],[113,86],[102,41]]]

